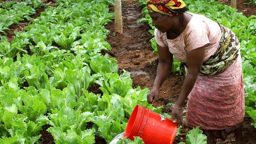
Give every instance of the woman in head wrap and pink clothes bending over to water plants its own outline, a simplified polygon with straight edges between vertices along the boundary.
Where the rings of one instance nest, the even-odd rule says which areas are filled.
[[[173,56],[186,67],[186,78],[172,108],[180,126],[187,101],[186,125],[200,126],[209,144],[234,132],[242,144],[244,87],[240,44],[228,28],[205,16],[186,12],[182,0],[146,0],[159,54],[156,79],[148,103],[157,102],[169,76]]]

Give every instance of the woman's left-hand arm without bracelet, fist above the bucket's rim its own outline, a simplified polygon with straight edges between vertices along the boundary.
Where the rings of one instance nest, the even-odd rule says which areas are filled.
[[[156,72],[156,79],[153,84],[152,90],[148,94],[148,103],[157,102],[159,96],[159,89],[164,83],[164,80],[170,75],[172,69],[173,55],[170,53],[168,47],[157,45],[159,62]]]

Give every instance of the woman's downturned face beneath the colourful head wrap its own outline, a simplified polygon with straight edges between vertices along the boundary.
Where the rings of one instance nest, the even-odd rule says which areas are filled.
[[[158,12],[149,12],[149,15],[152,18],[152,25],[160,30],[160,32],[167,32],[174,24],[172,16],[160,14]]]

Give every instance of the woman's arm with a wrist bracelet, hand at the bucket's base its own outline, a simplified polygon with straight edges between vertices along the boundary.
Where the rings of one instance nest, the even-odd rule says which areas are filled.
[[[180,92],[180,96],[176,102],[175,107],[172,109],[172,119],[178,121],[178,126],[182,124],[182,110],[178,108],[182,108],[185,100],[188,97],[188,94],[191,92],[194,84],[196,83],[196,79],[198,73],[201,71],[203,60],[204,60],[205,46],[201,48],[196,48],[190,52],[186,53],[186,61],[188,65],[188,73],[182,85],[182,89]],[[181,112],[181,114],[180,114]]]

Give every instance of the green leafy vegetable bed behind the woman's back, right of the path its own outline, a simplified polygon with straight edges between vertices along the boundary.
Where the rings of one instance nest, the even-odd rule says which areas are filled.
[[[255,121],[252,125],[256,128],[256,16],[253,15],[247,18],[242,13],[238,13],[236,9],[213,0],[185,0],[185,3],[190,9],[189,12],[203,14],[232,29],[238,36],[243,60],[246,117],[251,117]],[[146,6],[146,2],[140,0],[140,6]],[[152,26],[152,20],[146,7],[142,10],[142,13],[145,14],[145,18],[138,22],[148,22],[153,29],[149,32],[154,35],[155,27]],[[152,48],[157,52],[154,38],[151,43]],[[174,61],[174,71],[179,70],[179,64],[176,60]]]

